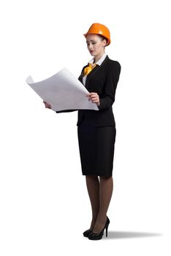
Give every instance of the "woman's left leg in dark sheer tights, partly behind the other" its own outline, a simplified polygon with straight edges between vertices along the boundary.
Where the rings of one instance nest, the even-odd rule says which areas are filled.
[[[99,178],[98,176],[86,176],[88,195],[91,200],[92,221],[91,229],[94,228],[97,214],[99,213]]]

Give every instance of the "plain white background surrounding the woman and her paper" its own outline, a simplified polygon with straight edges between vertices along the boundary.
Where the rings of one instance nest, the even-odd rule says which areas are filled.
[[[0,255],[170,255],[170,1],[1,1]],[[121,64],[113,105],[108,238],[90,241],[77,111],[45,109],[26,84],[92,58],[91,23]],[[95,244],[95,245],[94,245]]]

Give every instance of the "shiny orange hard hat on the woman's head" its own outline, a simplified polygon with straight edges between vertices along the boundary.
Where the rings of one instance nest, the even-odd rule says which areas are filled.
[[[83,35],[87,37],[88,34],[99,34],[100,36],[105,37],[107,39],[107,45],[110,45],[110,31],[107,29],[107,26],[100,23],[93,23],[88,29],[88,32]]]

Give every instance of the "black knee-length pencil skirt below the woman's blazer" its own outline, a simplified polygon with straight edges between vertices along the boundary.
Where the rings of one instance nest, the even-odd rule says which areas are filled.
[[[115,135],[115,127],[94,127],[91,120],[83,119],[77,127],[83,175],[113,175]]]

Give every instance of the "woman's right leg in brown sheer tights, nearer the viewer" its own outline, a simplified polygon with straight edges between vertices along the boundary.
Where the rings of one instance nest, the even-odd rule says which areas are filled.
[[[105,225],[105,222],[107,220],[107,209],[109,207],[110,199],[113,194],[113,176],[99,176],[99,179],[100,207],[98,216],[96,218],[96,223],[94,225],[94,233],[99,233]]]

